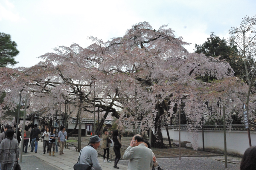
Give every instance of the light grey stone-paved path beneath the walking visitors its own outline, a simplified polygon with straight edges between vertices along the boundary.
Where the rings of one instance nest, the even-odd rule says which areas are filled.
[[[49,153],[43,152],[43,142],[38,142],[38,151],[35,153],[35,150],[33,153],[30,152],[31,147],[28,148],[28,153],[23,155],[32,154],[33,156],[36,156],[37,158],[41,159],[42,161],[45,161],[46,163],[52,165],[53,167],[56,167],[59,170],[74,170],[73,166],[77,163],[79,152],[76,152],[74,150],[65,149],[63,150],[64,155],[60,155],[59,152],[55,153],[55,156],[49,156]],[[59,149],[58,149],[59,150]],[[113,168],[114,163],[113,161],[111,163],[103,162],[103,158],[99,157],[100,165],[102,166],[103,170],[116,170]],[[37,162],[33,162],[33,165],[36,165]],[[118,164],[118,167],[120,167],[119,170],[127,170],[126,165]],[[47,170],[47,169],[46,169]]]

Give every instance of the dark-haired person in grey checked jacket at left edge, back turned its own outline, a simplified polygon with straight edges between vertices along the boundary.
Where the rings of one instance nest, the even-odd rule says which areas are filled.
[[[14,131],[10,128],[6,130],[7,139],[3,139],[0,144],[0,164],[2,170],[12,170],[15,161],[19,160],[19,144],[13,138]]]

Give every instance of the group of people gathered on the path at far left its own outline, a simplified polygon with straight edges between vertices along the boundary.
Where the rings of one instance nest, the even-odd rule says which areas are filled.
[[[37,153],[38,141],[40,128],[37,124],[35,125],[25,125],[22,130],[14,125],[1,126],[3,133],[0,134],[0,170],[12,170],[15,161],[19,160],[19,144],[21,141],[22,130],[24,130],[24,141],[23,141],[23,153],[27,153],[28,147],[31,147],[30,152]],[[18,128],[17,134],[15,133],[16,128]],[[42,139],[44,140],[44,154],[49,153],[49,156],[54,156],[58,152],[58,144],[60,144],[60,155],[64,154],[64,142],[67,140],[67,132],[65,127],[61,127],[61,130],[57,133],[55,127],[46,127],[44,133],[42,134]],[[30,140],[30,141],[29,141]],[[28,146],[29,145],[29,146]]]

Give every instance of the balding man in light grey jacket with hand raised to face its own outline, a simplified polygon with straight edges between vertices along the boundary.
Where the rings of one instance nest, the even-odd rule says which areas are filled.
[[[143,144],[143,137],[140,135],[132,138],[123,159],[129,159],[127,170],[149,170],[153,166],[152,150]]]

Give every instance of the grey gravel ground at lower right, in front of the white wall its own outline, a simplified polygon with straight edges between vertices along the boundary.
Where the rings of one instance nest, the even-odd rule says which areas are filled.
[[[162,158],[157,159],[159,166],[163,170],[239,170],[239,164],[227,163],[225,169],[224,162],[216,161],[210,157],[188,157],[188,158]],[[119,161],[119,164],[128,165],[127,160]]]

